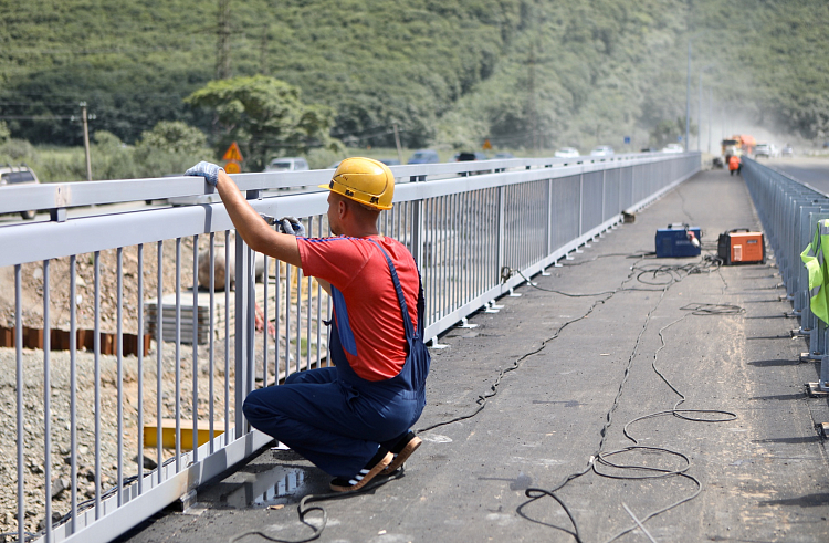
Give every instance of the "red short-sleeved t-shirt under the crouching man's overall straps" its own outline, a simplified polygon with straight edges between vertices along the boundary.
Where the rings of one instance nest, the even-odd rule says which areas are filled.
[[[417,330],[418,269],[399,241],[370,237],[391,258]],[[366,380],[395,377],[406,363],[406,335],[397,291],[382,252],[369,238],[297,238],[303,273],[332,284],[343,349]]]

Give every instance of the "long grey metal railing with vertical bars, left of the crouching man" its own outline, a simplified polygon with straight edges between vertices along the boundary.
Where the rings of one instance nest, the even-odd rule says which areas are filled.
[[[392,167],[400,180],[426,181],[398,185],[395,208],[380,216],[380,230],[414,255],[426,290],[426,336],[433,344],[441,332],[524,281],[511,270],[526,276],[543,271],[619,223],[622,211],[647,206],[700,170],[699,154],[575,163],[510,159]],[[323,184],[330,170],[232,177],[259,212],[301,217],[309,236],[328,234],[325,191],[263,197],[263,190]],[[0,212],[55,210],[52,221],[0,228],[0,268],[13,267],[15,283],[15,533],[20,541],[109,541],[270,440],[251,431],[242,401],[256,386],[327,364],[322,321],[330,303],[312,278],[272,259],[264,259],[264,281],[258,283],[254,253],[241,239],[232,242],[233,227],[221,203],[70,220],[60,211],[82,202],[204,194],[200,179],[61,187],[21,187],[0,203]],[[195,270],[222,255],[235,262],[235,290],[230,290],[230,274],[217,284],[214,267],[207,265],[209,286],[200,292]],[[113,262],[114,270],[105,269],[104,261]],[[92,285],[83,281],[82,269],[92,274]],[[22,292],[27,278],[42,285],[35,304],[40,310],[24,306],[32,295]],[[81,290],[92,299],[91,306],[78,305]],[[114,315],[102,296],[115,300]],[[151,297],[155,313],[145,311]],[[59,299],[67,301],[69,317],[55,313],[52,300]],[[94,317],[86,334],[92,335],[88,352],[83,351],[80,310]],[[23,348],[24,313],[42,313],[42,352]],[[261,332],[258,320],[264,322]],[[139,347],[127,356],[124,345],[132,330],[124,326],[133,322]],[[200,335],[204,326],[206,336]],[[145,352],[140,345],[149,327],[154,344]],[[69,343],[65,356],[51,351],[60,337]],[[107,337],[114,343],[112,356],[104,354]],[[53,375],[60,386],[53,387]],[[164,446],[165,419],[172,419],[170,450]],[[145,424],[156,429],[148,434]],[[59,431],[61,427],[69,432]],[[156,445],[145,448],[145,438]],[[34,441],[33,451],[28,446]],[[145,469],[149,458],[157,467]],[[53,498],[53,481],[64,476],[67,488]],[[105,478],[112,482],[105,484]],[[55,512],[63,516],[33,534],[39,519],[28,511],[38,499],[45,519]]]

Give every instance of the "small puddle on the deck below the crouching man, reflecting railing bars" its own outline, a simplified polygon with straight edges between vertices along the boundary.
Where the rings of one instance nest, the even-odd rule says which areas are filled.
[[[262,473],[249,473],[248,480],[234,484],[234,489],[222,495],[225,505],[235,509],[265,508],[286,503],[286,498],[306,494],[305,470],[274,467]]]

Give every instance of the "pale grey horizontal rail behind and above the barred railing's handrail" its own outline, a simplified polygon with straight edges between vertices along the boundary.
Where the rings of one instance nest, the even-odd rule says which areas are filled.
[[[397,179],[450,176],[470,171],[504,169],[553,168],[573,165],[594,166],[599,169],[630,165],[631,163],[660,161],[678,155],[626,154],[608,157],[578,158],[508,158],[464,163],[440,163],[391,166]],[[241,190],[267,190],[296,186],[325,185],[332,169],[311,171],[270,171],[235,174],[231,177]],[[65,209],[81,206],[101,206],[128,201],[160,200],[166,198],[209,195],[214,190],[203,179],[187,176],[154,177],[146,179],[116,179],[108,181],[54,182],[3,187],[0,194],[0,213],[15,213],[30,209]]]

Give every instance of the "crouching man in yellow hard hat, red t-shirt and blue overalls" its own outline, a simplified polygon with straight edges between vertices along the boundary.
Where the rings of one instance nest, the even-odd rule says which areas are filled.
[[[334,477],[330,488],[363,488],[397,470],[420,446],[411,426],[426,405],[429,353],[423,344],[423,291],[414,260],[380,236],[395,178],[370,158],[346,158],[327,188],[333,238],[304,237],[302,223],[276,232],[219,166],[201,161],[187,175],[216,185],[242,239],[255,251],[300,267],[330,294],[334,367],[294,373],[284,385],[253,390],[244,416]],[[293,236],[292,236],[293,234]]]

